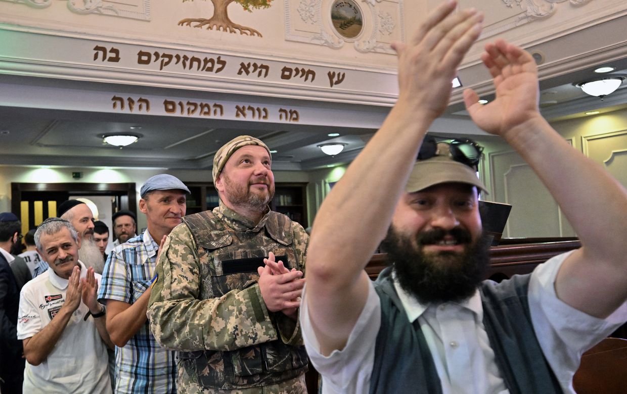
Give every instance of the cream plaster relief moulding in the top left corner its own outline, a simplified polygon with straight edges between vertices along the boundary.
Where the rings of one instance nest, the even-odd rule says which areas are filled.
[[[9,3],[20,3],[32,8],[48,8],[53,0],[0,0]],[[117,16],[119,18],[140,19],[142,21],[150,20],[150,0],[124,0],[107,1],[107,0],[66,0],[68,9],[75,14],[100,14],[108,16]],[[81,4],[79,4],[81,3]],[[140,9],[141,11],[129,11],[120,9],[120,4],[129,5]]]

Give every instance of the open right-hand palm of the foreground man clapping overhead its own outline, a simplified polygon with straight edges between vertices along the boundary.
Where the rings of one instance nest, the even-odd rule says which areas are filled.
[[[464,91],[464,103],[472,120],[488,133],[506,134],[539,118],[538,72],[534,58],[524,49],[498,39],[485,46],[481,59],[490,71],[496,98],[487,105],[477,102],[475,91]]]

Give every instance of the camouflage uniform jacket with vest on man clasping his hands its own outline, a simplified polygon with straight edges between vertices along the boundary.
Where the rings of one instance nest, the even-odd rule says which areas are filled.
[[[147,312],[156,340],[179,351],[184,375],[232,390],[306,370],[299,324],[268,311],[256,283],[270,251],[304,271],[306,246],[302,226],[277,212],[256,226],[224,205],[185,217],[164,244]]]

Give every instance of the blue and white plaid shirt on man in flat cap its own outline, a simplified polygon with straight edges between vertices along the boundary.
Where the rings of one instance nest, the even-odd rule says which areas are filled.
[[[98,299],[137,301],[150,286],[158,249],[147,230],[115,247],[105,264]],[[115,346],[115,392],[176,393],[174,351],[159,346],[148,321],[124,348]]]

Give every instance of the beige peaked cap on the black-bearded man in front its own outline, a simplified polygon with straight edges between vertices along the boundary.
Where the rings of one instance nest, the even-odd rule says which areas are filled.
[[[487,193],[485,185],[477,177],[475,168],[453,160],[450,145],[441,142],[438,143],[437,155],[426,160],[418,160],[414,164],[405,191],[408,193],[418,192],[433,185],[448,182],[470,184]]]

